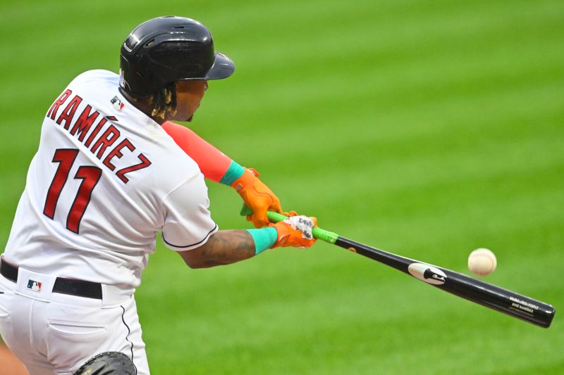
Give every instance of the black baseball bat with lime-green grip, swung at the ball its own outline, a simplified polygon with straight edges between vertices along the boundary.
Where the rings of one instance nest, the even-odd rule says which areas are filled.
[[[271,222],[279,222],[286,219],[286,216],[277,212],[269,211],[267,215]],[[388,253],[387,251],[364,245],[364,243],[345,239],[336,233],[319,227],[314,227],[312,233],[316,239],[333,243],[336,246],[353,251],[353,253],[384,263],[384,265],[410,274],[412,277],[442,291],[458,295],[458,297],[490,307],[537,326],[548,328],[556,312],[554,307],[547,303],[508,291],[493,284],[488,284],[450,269]]]

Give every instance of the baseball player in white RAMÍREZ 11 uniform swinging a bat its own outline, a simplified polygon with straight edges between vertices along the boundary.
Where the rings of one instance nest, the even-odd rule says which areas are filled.
[[[281,205],[258,174],[170,122],[233,70],[201,23],[154,18],[125,39],[120,75],[84,72],[49,107],[0,260],[0,333],[30,374],[103,352],[149,374],[133,293],[159,232],[196,268],[312,246],[315,218],[269,223]],[[233,186],[259,229],[219,231],[204,177]]]

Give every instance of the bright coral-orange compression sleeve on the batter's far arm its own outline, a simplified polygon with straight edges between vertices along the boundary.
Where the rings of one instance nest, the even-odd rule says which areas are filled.
[[[176,144],[197,163],[204,177],[215,182],[221,181],[231,165],[231,158],[187,127],[171,121],[164,122],[162,127]]]

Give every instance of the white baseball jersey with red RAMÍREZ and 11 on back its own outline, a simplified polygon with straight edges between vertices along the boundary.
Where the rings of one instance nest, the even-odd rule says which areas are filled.
[[[173,250],[217,231],[197,164],[118,80],[82,73],[47,111],[4,253],[13,265],[133,291],[159,231]]]

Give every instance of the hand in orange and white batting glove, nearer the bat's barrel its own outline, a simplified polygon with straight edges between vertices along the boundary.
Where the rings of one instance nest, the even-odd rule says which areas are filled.
[[[294,246],[309,248],[315,243],[312,229],[317,225],[317,217],[292,216],[282,222],[271,224],[278,232],[278,239],[271,248]]]

